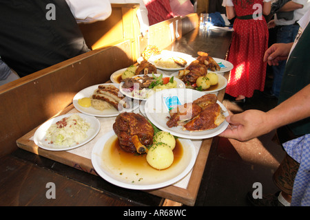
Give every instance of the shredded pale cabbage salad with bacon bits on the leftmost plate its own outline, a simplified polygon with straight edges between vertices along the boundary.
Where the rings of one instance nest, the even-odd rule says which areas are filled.
[[[52,124],[46,132],[46,140],[58,146],[73,146],[87,138],[90,123],[78,114],[72,114]]]

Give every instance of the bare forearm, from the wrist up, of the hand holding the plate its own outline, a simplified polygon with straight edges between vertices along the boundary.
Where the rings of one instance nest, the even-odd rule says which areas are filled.
[[[310,84],[268,111],[266,121],[272,130],[308,117],[310,117]]]

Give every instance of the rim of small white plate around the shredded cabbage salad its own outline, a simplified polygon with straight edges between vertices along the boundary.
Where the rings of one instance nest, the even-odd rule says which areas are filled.
[[[55,124],[59,120],[65,117],[69,117],[70,115],[73,114],[80,115],[81,118],[83,118],[86,122],[90,123],[90,129],[88,129],[88,131],[86,132],[87,138],[83,142],[72,146],[57,146],[56,144],[50,144],[48,141],[45,140],[46,131],[48,131],[48,129],[52,124]],[[48,151],[68,151],[73,148],[82,146],[87,142],[90,142],[90,140],[92,140],[99,133],[99,130],[100,130],[100,122],[94,116],[84,115],[83,113],[69,113],[66,115],[57,116],[56,118],[52,118],[47,122],[41,124],[41,126],[39,126],[37,131],[34,133],[34,144],[37,144],[37,146]]]

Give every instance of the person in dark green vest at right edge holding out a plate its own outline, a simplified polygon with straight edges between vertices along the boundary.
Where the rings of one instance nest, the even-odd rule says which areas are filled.
[[[276,194],[254,199],[254,206],[310,206],[310,11],[298,21],[300,29],[293,43],[276,43],[265,52],[264,61],[278,65],[287,61],[278,106],[267,111],[249,109],[227,116],[230,126],[219,136],[250,140],[276,129],[285,159],[273,173],[280,189]],[[302,68],[299,68],[302,66]]]

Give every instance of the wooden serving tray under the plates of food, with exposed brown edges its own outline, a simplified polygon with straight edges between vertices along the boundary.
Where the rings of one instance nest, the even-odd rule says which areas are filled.
[[[224,94],[225,89],[219,91],[218,100],[222,101]],[[73,104],[64,109],[59,115],[69,113],[70,111],[74,111]],[[37,155],[52,159],[61,164],[66,164],[68,166],[72,166],[73,168],[83,170],[87,173],[97,175],[94,167],[92,166],[91,159],[87,157],[82,157],[81,155],[76,155],[69,151],[48,151],[34,144],[33,136],[35,131],[37,131],[38,127],[32,129],[32,131],[20,137],[17,140],[17,146],[24,149],[25,151],[30,151]],[[159,197],[170,199],[178,203],[183,203],[186,206],[194,206],[200,187],[201,178],[203,177],[203,172],[205,170],[205,164],[207,163],[207,158],[209,156],[212,140],[213,138],[207,138],[205,140],[202,140],[198,155],[196,157],[196,163],[194,164],[186,188],[171,185],[155,190],[146,190],[145,192],[149,192],[152,195],[157,195]]]

